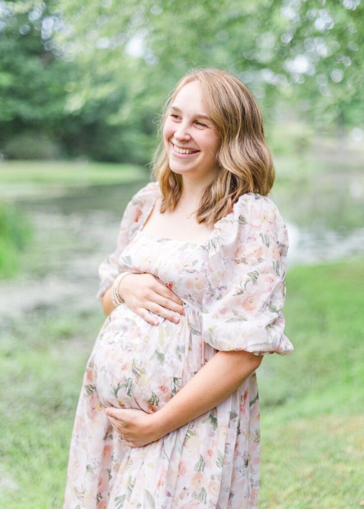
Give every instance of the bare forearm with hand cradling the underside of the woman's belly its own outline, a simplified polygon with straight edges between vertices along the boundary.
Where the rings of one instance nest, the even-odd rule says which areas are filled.
[[[216,407],[255,371],[262,356],[241,351],[217,352],[160,410],[107,408],[111,424],[130,447],[141,447]]]

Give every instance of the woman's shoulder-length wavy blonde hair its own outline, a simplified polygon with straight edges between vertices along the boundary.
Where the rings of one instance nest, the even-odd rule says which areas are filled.
[[[152,173],[162,192],[160,212],[174,210],[182,193],[182,176],[172,172],[163,142],[163,125],[178,92],[198,80],[203,104],[219,134],[216,163],[220,171],[207,186],[196,211],[199,223],[215,223],[226,216],[241,194],[267,195],[274,182],[272,155],[264,138],[264,125],[253,94],[229,72],[194,68],[183,76],[162,108],[160,143],[152,160]]]

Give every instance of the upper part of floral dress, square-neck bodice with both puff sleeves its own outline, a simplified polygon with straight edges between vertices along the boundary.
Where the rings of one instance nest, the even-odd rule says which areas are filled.
[[[98,298],[118,273],[149,272],[188,304],[191,326],[212,349],[291,352],[282,313],[288,234],[275,204],[242,194],[198,245],[143,231],[160,196],[158,182],[150,182],[127,205],[117,248],[99,268]]]

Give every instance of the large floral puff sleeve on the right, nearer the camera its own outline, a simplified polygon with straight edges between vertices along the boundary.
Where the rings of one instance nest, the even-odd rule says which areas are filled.
[[[216,350],[284,355],[286,225],[266,196],[246,193],[215,223],[208,244],[202,338]]]

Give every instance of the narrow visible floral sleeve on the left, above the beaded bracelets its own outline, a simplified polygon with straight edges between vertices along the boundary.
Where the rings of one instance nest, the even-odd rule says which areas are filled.
[[[103,260],[98,269],[100,284],[96,297],[100,301],[102,301],[102,297],[106,290],[110,288],[115,278],[120,273],[118,263],[120,255],[135,232],[140,228],[143,217],[145,217],[146,214],[147,216],[149,215],[154,205],[158,189],[158,182],[149,182],[142,189],[139,189],[127,204],[119,227],[116,249]]]

